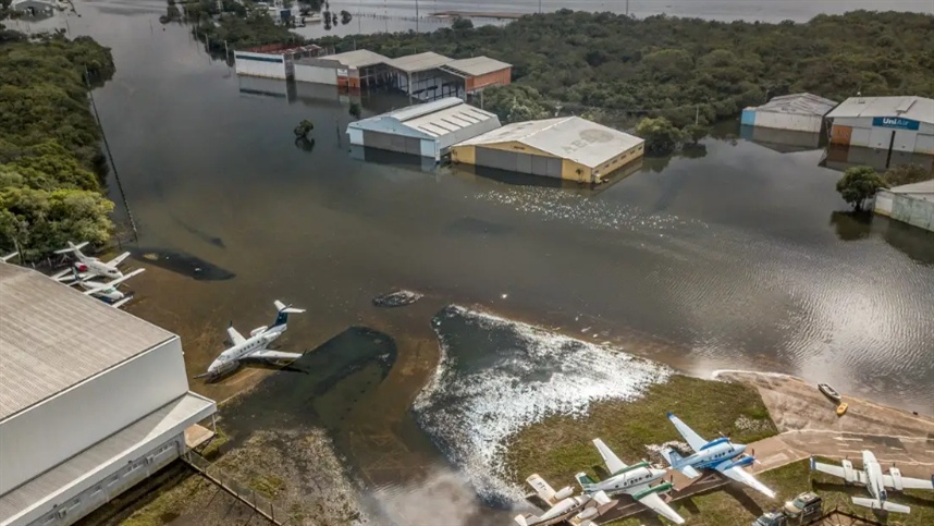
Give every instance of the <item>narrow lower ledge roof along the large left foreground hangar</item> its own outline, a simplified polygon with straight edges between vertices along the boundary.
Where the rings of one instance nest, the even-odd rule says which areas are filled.
[[[99,479],[97,474],[99,469],[128,454],[148,452],[148,448],[158,445],[149,442],[160,435],[170,431],[182,432],[186,427],[207,418],[216,411],[217,405],[213,401],[191,392],[170,402],[0,497],[0,523],[5,523],[34,506],[54,499],[61,491],[78,484],[82,479],[88,477],[91,480]],[[136,451],[140,449],[147,451]]]

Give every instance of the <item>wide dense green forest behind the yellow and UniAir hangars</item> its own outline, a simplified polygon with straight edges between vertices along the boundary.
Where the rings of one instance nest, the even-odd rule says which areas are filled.
[[[490,90],[502,118],[541,117],[553,107],[668,118],[678,127],[737,115],[776,95],[810,91],[843,100],[868,96],[934,97],[934,16],[857,11],[808,23],[709,22],[612,13],[525,16],[504,27],[430,34],[327,37],[339,51],[389,57],[435,51],[486,54],[514,64],[515,87]]]

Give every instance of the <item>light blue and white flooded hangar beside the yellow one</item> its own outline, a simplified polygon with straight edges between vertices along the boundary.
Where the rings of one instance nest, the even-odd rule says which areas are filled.
[[[347,125],[351,144],[435,161],[451,146],[500,127],[500,118],[454,97],[411,106]]]

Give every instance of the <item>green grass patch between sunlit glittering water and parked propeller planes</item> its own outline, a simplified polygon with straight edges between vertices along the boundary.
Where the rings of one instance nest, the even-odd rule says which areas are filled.
[[[520,485],[538,473],[565,486],[575,473],[601,463],[594,438],[626,463],[648,458],[646,444],[683,440],[665,416],[669,411],[706,439],[723,432],[749,443],[777,432],[754,388],[675,375],[649,387],[641,399],[598,402],[586,417],[552,416],[526,427],[507,440],[507,473]]]

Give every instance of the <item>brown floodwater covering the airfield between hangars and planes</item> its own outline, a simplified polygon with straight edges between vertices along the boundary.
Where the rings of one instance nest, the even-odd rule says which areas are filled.
[[[309,351],[299,370],[249,368],[193,388],[223,401],[259,386],[222,408],[235,440],[296,421],[329,429],[391,516],[411,519],[407,496],[423,502],[426,479],[472,502],[444,470],[439,435],[419,426],[457,415],[425,399],[419,420],[411,412],[440,374],[440,341],[463,330],[432,325],[452,304],[697,375],[788,372],[934,413],[934,234],[846,213],[820,151],[710,138],[597,193],[364,162],[343,133],[348,101],[332,88],[243,89],[186,27],[158,23],[162,2],[77,9],[70,32],[116,61],[95,98],[149,268],[130,310],[183,338],[194,376],[229,322],[268,323],[273,299],[306,308],[278,342]],[[404,103],[362,97],[365,117]],[[295,144],[302,119],[316,124],[311,147]],[[183,255],[182,270],[147,262],[153,253]],[[193,279],[184,269],[197,261],[223,278]],[[398,288],[425,297],[372,305]],[[457,353],[495,365],[516,345],[502,323]]]

